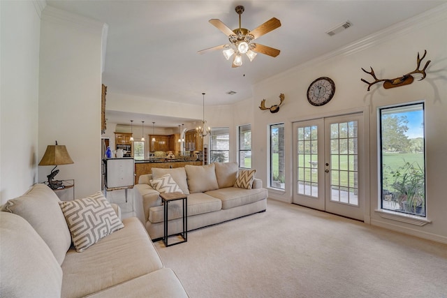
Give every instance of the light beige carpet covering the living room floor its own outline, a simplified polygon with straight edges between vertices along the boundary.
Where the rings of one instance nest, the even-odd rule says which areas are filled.
[[[155,243],[190,297],[447,297],[447,245],[268,200]]]

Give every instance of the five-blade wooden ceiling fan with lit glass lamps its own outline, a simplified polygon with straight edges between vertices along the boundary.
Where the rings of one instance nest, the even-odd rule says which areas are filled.
[[[205,54],[206,52],[212,50],[221,50],[223,49],[223,56],[228,60],[233,54],[235,57],[233,58],[232,67],[239,67],[242,65],[242,54],[247,54],[250,61],[256,57],[257,53],[266,54],[271,57],[277,57],[279,55],[279,50],[274,49],[273,47],[268,47],[266,45],[260,45],[259,43],[254,43],[256,38],[263,36],[274,29],[281,27],[281,22],[276,18],[272,17],[270,20],[261,24],[256,29],[249,31],[248,29],[241,27],[240,16],[244,12],[244,6],[236,6],[236,13],[239,15],[239,28],[231,30],[223,24],[223,22],[219,19],[211,19],[209,22],[222,31],[226,36],[228,36],[229,44],[226,45],[217,45],[216,47],[210,47],[205,50],[198,51],[198,54]]]

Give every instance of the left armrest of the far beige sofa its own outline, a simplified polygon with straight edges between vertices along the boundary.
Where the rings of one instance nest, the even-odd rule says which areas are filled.
[[[133,210],[136,217],[146,225],[149,218],[149,209],[161,206],[160,193],[147,184],[136,184],[133,186]]]

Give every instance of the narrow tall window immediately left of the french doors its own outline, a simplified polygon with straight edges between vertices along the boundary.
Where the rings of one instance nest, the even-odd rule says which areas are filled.
[[[270,125],[270,186],[285,189],[284,185],[284,123]]]

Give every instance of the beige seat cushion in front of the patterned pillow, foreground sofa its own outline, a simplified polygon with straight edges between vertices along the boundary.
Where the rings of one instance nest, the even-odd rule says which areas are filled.
[[[138,218],[124,218],[123,223],[124,228],[83,253],[77,253],[74,248],[68,251],[62,264],[61,297],[84,297],[163,268]]]

